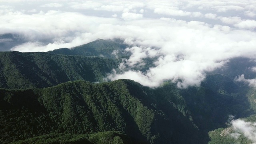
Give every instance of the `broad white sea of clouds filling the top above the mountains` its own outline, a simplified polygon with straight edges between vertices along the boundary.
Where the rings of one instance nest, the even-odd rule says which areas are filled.
[[[107,79],[127,78],[150,87],[172,80],[186,88],[199,86],[206,72],[230,58],[256,58],[256,1],[0,0],[2,34],[15,38],[0,38],[0,46],[11,46],[0,51],[20,52],[120,38],[132,56]],[[132,69],[144,66],[145,58],[155,58],[154,66],[146,72]],[[236,80],[250,86],[256,81],[243,75]]]

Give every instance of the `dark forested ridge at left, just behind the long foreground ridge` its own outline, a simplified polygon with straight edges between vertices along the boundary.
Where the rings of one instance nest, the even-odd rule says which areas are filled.
[[[46,52],[0,52],[0,87],[45,88],[74,80],[102,81],[119,62]]]

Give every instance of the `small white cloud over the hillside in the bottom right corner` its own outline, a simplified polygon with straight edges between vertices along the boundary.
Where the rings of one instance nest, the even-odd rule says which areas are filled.
[[[232,128],[236,131],[231,136],[238,138],[240,134],[243,134],[246,138],[251,140],[253,144],[256,144],[256,122],[245,122],[244,120],[232,120]]]

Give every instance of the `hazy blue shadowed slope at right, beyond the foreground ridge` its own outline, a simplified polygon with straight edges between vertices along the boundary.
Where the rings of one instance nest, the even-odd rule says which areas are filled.
[[[201,85],[181,90],[181,94],[192,112],[194,122],[204,134],[226,127],[230,115],[241,118],[255,114],[246,96],[248,89],[240,88],[228,77],[211,74]]]

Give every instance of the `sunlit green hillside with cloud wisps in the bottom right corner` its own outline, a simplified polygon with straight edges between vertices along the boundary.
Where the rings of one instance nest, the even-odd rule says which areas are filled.
[[[249,88],[244,97],[240,97],[238,100],[243,100],[243,102],[237,102],[233,104],[233,107],[236,108],[235,118],[240,118],[238,123],[241,126],[242,130],[235,130],[232,121],[227,121],[225,126],[220,126],[215,130],[209,132],[210,142],[209,144],[230,144],[230,143],[239,143],[239,144],[252,144],[255,142],[255,122],[256,122],[256,89]],[[238,105],[238,103],[240,103]],[[243,104],[244,103],[244,104]],[[246,110],[246,108],[248,110]],[[244,111],[241,111],[243,110]],[[250,122],[247,123],[246,122]],[[246,135],[246,136],[245,136]],[[254,139],[254,141],[250,140]]]

